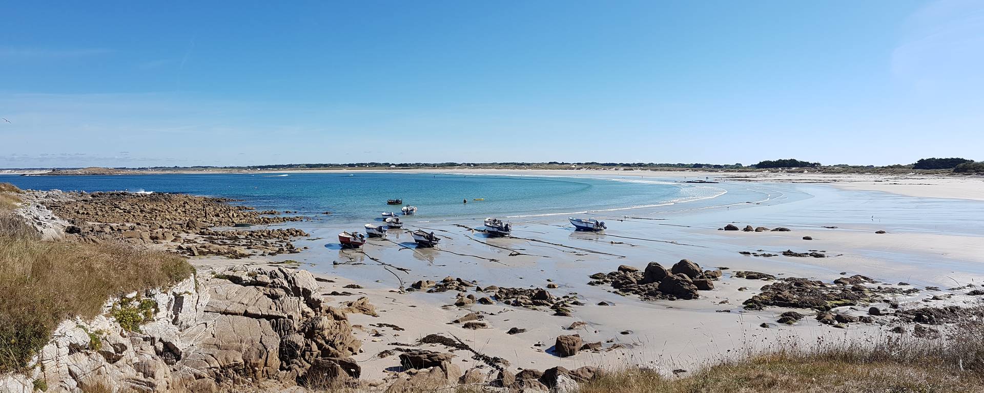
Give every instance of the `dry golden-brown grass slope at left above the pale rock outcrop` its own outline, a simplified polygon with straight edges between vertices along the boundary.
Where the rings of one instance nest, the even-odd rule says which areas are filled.
[[[193,271],[181,256],[121,243],[42,242],[0,213],[0,373],[24,368],[61,320],[91,318],[110,297]]]

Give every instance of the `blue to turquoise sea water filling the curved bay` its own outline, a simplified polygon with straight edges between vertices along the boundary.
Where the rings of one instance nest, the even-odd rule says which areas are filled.
[[[388,198],[417,206],[417,218],[537,216],[617,211],[706,200],[719,188],[639,177],[607,179],[406,173],[201,174],[136,176],[0,176],[23,189],[130,191],[231,197],[258,209],[297,210],[324,220],[400,211]],[[712,185],[708,185],[712,186]],[[473,200],[484,198],[484,200]],[[466,199],[467,203],[462,203]],[[332,211],[331,216],[323,214]]]

